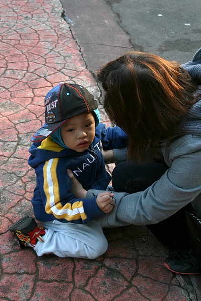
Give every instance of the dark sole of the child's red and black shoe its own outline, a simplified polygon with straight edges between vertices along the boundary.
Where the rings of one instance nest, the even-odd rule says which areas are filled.
[[[9,230],[11,232],[17,232],[20,231],[23,234],[27,234],[34,230],[36,226],[35,219],[33,217],[25,216],[21,218],[19,221],[17,221],[15,224],[13,224]]]

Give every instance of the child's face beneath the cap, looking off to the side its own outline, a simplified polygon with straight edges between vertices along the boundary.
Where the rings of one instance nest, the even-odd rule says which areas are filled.
[[[64,144],[76,152],[84,152],[95,137],[95,119],[92,113],[84,113],[68,119],[61,127]]]

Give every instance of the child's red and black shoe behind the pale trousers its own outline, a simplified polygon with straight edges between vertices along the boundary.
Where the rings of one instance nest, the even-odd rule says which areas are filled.
[[[43,242],[42,238],[45,235],[43,227],[38,225],[33,217],[25,216],[13,224],[9,230],[16,236],[21,249],[26,247],[34,247],[36,240]]]

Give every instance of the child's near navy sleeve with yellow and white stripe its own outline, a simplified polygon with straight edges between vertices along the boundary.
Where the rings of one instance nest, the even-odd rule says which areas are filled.
[[[33,198],[34,213],[39,220],[59,220],[61,222],[86,224],[91,219],[104,214],[96,204],[96,196],[90,199],[76,199],[69,190],[72,183],[67,167],[61,158],[53,158],[40,164],[36,169],[39,189]],[[37,196],[38,194],[38,196]],[[39,195],[40,194],[40,195]],[[37,209],[37,198],[43,202],[44,219],[41,217],[41,204]]]

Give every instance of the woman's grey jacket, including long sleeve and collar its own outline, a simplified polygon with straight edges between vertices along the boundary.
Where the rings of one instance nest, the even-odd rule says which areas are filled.
[[[200,84],[201,49],[182,67]],[[199,89],[196,93],[201,92],[201,86]],[[201,216],[201,100],[182,119],[175,136],[161,147],[169,166],[162,177],[144,191],[115,193],[114,209],[95,221],[103,227],[155,224],[190,202]],[[89,190],[87,197],[99,192]]]

